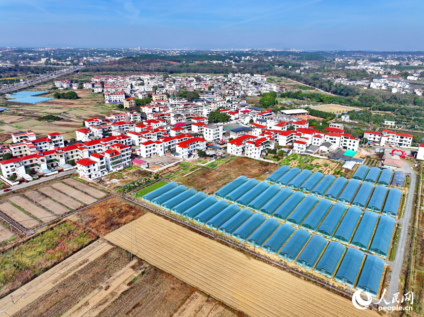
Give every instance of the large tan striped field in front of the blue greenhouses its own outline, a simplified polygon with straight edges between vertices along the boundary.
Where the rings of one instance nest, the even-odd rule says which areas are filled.
[[[109,233],[106,239],[248,316],[378,316],[151,213]]]

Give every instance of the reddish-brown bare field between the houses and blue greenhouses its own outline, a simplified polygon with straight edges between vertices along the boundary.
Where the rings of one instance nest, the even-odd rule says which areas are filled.
[[[216,184],[218,189],[240,175],[263,181],[268,176],[267,172],[274,171],[276,168],[277,165],[273,163],[237,157],[216,169],[202,167],[187,177],[178,179],[178,183],[192,188]]]

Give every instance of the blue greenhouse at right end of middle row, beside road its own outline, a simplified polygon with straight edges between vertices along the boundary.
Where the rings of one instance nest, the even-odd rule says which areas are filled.
[[[389,216],[381,216],[371,242],[370,252],[384,257],[389,254],[393,229],[396,221]]]

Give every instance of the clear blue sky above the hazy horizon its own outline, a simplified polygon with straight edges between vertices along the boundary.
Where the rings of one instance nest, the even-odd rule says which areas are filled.
[[[423,0],[0,0],[0,46],[424,50]]]

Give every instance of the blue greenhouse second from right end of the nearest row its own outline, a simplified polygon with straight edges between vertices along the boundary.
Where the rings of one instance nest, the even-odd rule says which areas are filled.
[[[353,287],[364,256],[365,255],[358,249],[348,248],[342,262],[340,263],[339,269],[334,276],[334,280]]]

